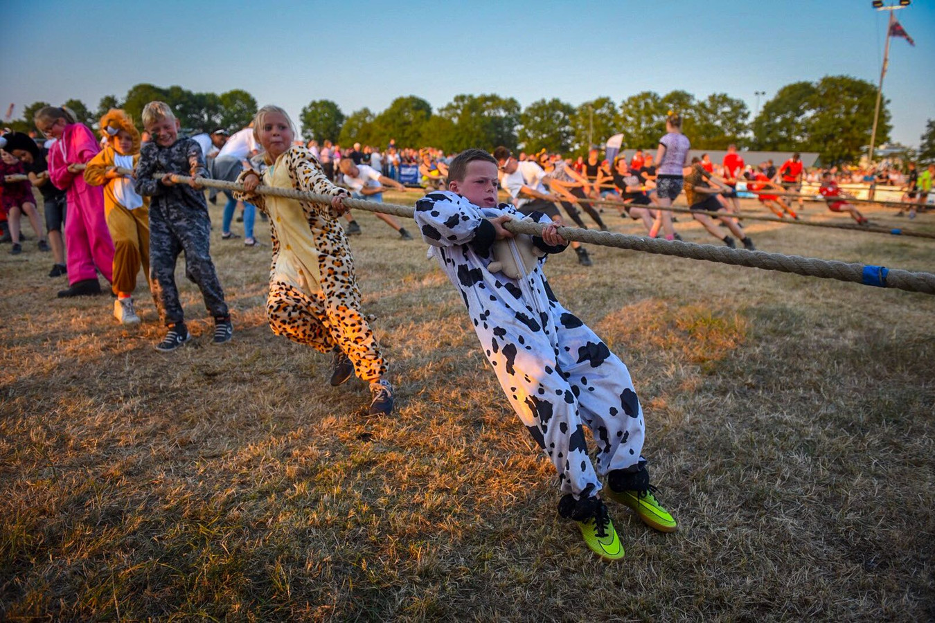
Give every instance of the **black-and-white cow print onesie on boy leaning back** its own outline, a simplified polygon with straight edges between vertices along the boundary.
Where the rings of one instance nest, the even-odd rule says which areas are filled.
[[[552,460],[563,494],[576,498],[601,489],[597,476],[635,471],[645,427],[642,408],[623,361],[555,299],[542,273],[545,258],[525,277],[487,270],[493,227],[503,214],[522,219],[512,205],[481,208],[449,191],[425,195],[415,220],[429,251],[461,291],[487,360],[510,404]],[[539,212],[532,219],[551,219]],[[533,243],[557,252],[539,237]],[[597,441],[597,472],[587,456],[583,425]]]

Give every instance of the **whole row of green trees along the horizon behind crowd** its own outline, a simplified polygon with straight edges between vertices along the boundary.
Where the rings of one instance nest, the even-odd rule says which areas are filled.
[[[69,100],[65,106],[94,127],[110,107],[124,108],[139,122],[143,106],[156,99],[172,106],[182,128],[189,132],[215,128],[235,132],[252,120],[257,108],[253,96],[242,90],[217,94],[151,84],[137,84],[122,99],[107,95],[94,111],[79,100]],[[350,115],[335,102],[320,99],[303,107],[298,121],[306,138],[342,145],[382,146],[395,138],[401,147],[460,151],[505,145],[530,152],[548,149],[581,155],[590,145],[602,144],[618,133],[624,135],[625,148],[653,149],[666,132],[666,116],[672,110],[682,115],[683,132],[697,149],[726,149],[734,143],[741,149],[817,151],[823,163],[842,163],[856,162],[870,143],[875,104],[876,87],[870,82],[827,76],[784,86],[753,119],[741,99],[726,93],[697,99],[685,91],[665,95],[645,91],[619,102],[602,96],[572,106],[557,98],[543,98],[525,107],[496,93],[460,94],[437,110],[423,98],[408,95],[397,97],[381,112],[364,107]],[[22,120],[13,121],[10,127],[34,129],[33,113],[42,106],[48,104],[26,106]],[[888,140],[890,129],[884,100],[877,144]]]

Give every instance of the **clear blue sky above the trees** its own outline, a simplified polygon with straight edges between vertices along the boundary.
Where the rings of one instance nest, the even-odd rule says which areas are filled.
[[[896,0],[888,0],[896,3]],[[935,7],[897,11],[884,94],[894,139],[917,146],[935,119]],[[674,89],[726,92],[753,113],[756,91],[846,74],[876,84],[885,13],[870,0],[686,2],[42,2],[0,6],[0,102],[77,97],[94,109],[134,84],[241,88],[297,117],[314,99],[345,114],[398,95],[433,107],[496,92],[525,106]],[[927,60],[928,59],[928,60]]]

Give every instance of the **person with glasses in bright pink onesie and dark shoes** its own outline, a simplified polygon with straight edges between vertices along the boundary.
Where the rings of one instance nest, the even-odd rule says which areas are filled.
[[[69,288],[60,297],[100,294],[96,268],[112,280],[114,244],[104,217],[104,191],[89,186],[81,175],[83,165],[100,151],[94,133],[78,123],[65,107],[46,106],[36,112],[36,128],[57,139],[49,149],[49,175],[52,184],[68,193],[65,219]]]

